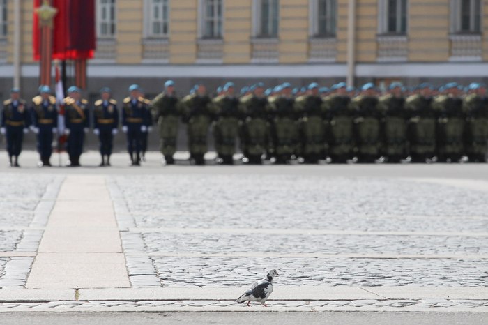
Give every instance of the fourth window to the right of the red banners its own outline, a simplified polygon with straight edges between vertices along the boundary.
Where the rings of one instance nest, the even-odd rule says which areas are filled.
[[[254,0],[254,35],[263,38],[278,37],[280,2],[278,0]]]

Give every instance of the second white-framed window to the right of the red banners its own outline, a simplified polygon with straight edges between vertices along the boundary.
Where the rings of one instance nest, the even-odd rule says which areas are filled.
[[[169,31],[169,0],[147,0],[146,35],[148,37],[164,37]]]

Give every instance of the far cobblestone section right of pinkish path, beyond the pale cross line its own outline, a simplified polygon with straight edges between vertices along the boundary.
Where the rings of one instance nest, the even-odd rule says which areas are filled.
[[[488,229],[485,193],[416,181],[252,175],[116,180],[137,227]]]

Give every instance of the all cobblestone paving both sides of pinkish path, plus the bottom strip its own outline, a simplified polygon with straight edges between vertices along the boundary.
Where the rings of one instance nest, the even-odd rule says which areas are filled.
[[[133,289],[247,287],[269,269],[279,270],[277,287],[291,289],[486,287],[486,184],[477,185],[485,190],[476,190],[477,186],[457,186],[455,180],[273,174],[273,166],[262,167],[270,174],[263,172],[266,169],[259,169],[259,174],[238,169],[234,174],[225,167],[211,173],[188,168],[188,174],[175,169],[178,174],[136,176],[130,176],[131,169],[112,169],[102,176],[114,204]],[[35,178],[24,170],[1,174],[5,195],[0,198],[0,288],[25,285],[66,176],[56,173],[36,169]],[[83,169],[86,173],[89,170]],[[488,310],[488,300],[479,296],[271,300],[269,309],[247,308],[229,297],[210,298],[24,300],[0,303],[0,312]]]

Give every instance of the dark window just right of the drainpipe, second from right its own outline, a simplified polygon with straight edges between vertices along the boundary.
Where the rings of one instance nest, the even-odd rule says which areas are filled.
[[[379,6],[379,32],[406,34],[407,0],[381,0]]]

